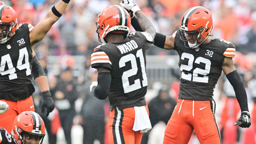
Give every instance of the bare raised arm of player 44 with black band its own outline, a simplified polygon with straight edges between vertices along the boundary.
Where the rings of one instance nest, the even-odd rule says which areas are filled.
[[[60,0],[59,3],[52,7],[44,18],[37,23],[37,25],[30,32],[30,43],[33,50],[34,44],[41,41],[52,25],[59,20],[60,16],[65,11],[70,0]]]

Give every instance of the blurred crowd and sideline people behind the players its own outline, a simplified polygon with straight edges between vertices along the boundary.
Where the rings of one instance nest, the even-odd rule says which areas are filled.
[[[18,23],[35,26],[59,0],[3,0],[14,8]],[[97,81],[97,70],[90,68],[92,49],[101,44],[96,34],[97,15],[119,0],[71,0],[62,17],[34,51],[46,71],[56,109],[46,122],[50,144],[108,144],[106,119],[108,100],[97,100],[89,91],[91,81]],[[234,127],[240,116],[234,90],[222,75],[214,91],[217,102],[216,119],[223,144],[255,144],[256,123],[256,0],[136,0],[140,9],[153,22],[156,32],[172,35],[180,25],[185,11],[204,6],[212,12],[212,38],[221,38],[236,46],[234,63],[247,91],[252,126]],[[134,31],[131,27],[130,31]],[[151,46],[147,50],[149,77],[146,100],[151,109],[153,129],[144,134],[143,144],[161,144],[165,125],[176,105],[179,88],[178,56],[174,50]],[[39,106],[40,91],[33,95]],[[64,132],[64,133],[63,133]],[[70,136],[71,135],[71,136]],[[233,136],[231,136],[233,135]],[[191,144],[198,144],[193,134]]]

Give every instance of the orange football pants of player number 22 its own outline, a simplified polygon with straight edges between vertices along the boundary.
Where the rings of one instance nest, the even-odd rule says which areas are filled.
[[[191,101],[178,99],[167,123],[163,144],[187,144],[196,132],[201,144],[221,144],[215,119],[215,101]]]

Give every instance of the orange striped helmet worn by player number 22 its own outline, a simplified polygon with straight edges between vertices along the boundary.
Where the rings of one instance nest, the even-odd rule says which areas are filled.
[[[188,48],[197,48],[201,43],[203,43],[210,32],[213,30],[213,20],[212,13],[202,6],[195,6],[188,9],[185,14],[183,14],[180,22],[179,30],[181,32],[181,40],[185,42],[185,46]],[[192,39],[187,39],[186,34],[196,33],[197,37]],[[196,39],[194,44],[188,43],[188,41],[193,41]]]

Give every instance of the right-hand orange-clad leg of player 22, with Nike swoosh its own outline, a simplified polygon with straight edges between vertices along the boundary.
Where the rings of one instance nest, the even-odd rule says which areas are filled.
[[[201,144],[221,144],[220,132],[216,122],[215,102],[195,101],[194,130]]]

